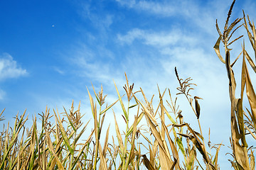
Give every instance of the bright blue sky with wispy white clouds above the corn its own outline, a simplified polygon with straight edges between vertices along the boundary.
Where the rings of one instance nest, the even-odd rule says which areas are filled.
[[[11,120],[26,108],[30,115],[45,111],[46,105],[70,108],[74,99],[87,113],[86,86],[92,93],[91,83],[96,91],[102,84],[111,103],[117,99],[113,79],[124,94],[124,72],[134,89],[142,87],[149,98],[158,96],[157,84],[175,96],[177,67],[181,78],[192,77],[198,84],[193,95],[203,98],[201,126],[205,136],[210,128],[213,143],[225,144],[220,167],[230,169],[231,158],[225,156],[230,152],[228,77],[213,46],[218,39],[215,20],[223,30],[231,3],[0,1],[0,110],[6,108],[4,116]],[[255,19],[255,8],[254,0],[238,0],[230,20],[242,17],[242,9]],[[233,45],[233,60],[241,42]],[[195,115],[184,99],[180,96],[178,104],[193,125]]]

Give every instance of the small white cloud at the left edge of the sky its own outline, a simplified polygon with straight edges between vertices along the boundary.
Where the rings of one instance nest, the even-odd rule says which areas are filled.
[[[17,78],[28,74],[26,69],[18,67],[11,55],[4,53],[0,56],[0,80]]]

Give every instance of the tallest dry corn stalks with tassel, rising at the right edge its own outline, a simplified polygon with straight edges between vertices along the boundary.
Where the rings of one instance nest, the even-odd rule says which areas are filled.
[[[240,35],[238,38],[235,38],[235,40],[230,41],[230,38],[232,38],[233,33],[235,33],[236,30],[240,27],[244,27],[248,38],[251,42],[252,49],[255,51],[255,57],[256,57],[256,47],[255,47],[255,26],[254,23],[250,21],[249,16],[247,16],[247,19],[245,17],[245,13],[243,18],[237,18],[233,23],[229,26],[229,19],[232,13],[233,6],[235,4],[235,0],[230,6],[230,10],[228,12],[228,17],[225,21],[225,27],[223,30],[223,33],[220,32],[220,29],[218,27],[218,23],[216,21],[216,28],[218,30],[218,33],[220,37],[218,38],[217,42],[215,43],[214,50],[216,54],[218,55],[221,62],[225,64],[225,67],[227,69],[228,73],[228,81],[229,81],[229,94],[230,94],[230,103],[231,103],[231,145],[233,149],[233,157],[234,162],[231,162],[234,169],[255,169],[255,160],[254,155],[252,152],[252,149],[248,149],[248,145],[246,142],[246,135],[249,133],[252,137],[255,138],[255,122],[256,122],[256,96],[255,91],[252,86],[252,81],[250,80],[250,75],[247,69],[247,64],[245,62],[245,58],[247,59],[247,62],[250,63],[252,69],[256,73],[256,67],[255,62],[253,62],[252,58],[248,55],[247,51],[245,50],[245,42],[243,42],[242,45],[242,52],[240,52],[240,55],[242,54],[242,73],[241,73],[241,94],[240,98],[235,98],[235,89],[236,89],[236,82],[235,82],[235,74],[233,72],[233,66],[235,62],[238,60],[240,55],[234,60],[233,63],[230,62],[230,48],[228,48],[233,42],[239,40],[243,37],[243,35]],[[249,22],[250,28],[252,30],[252,33],[250,33],[250,30],[247,25],[247,20]],[[244,23],[240,24],[240,21],[244,21]],[[222,55],[220,55],[220,41],[223,42],[223,45],[225,47],[225,60],[223,59]],[[256,58],[255,58],[256,59]],[[246,94],[247,99],[250,103],[251,111],[249,111],[247,108],[247,115],[245,111],[243,110],[243,94],[245,91],[245,85],[246,85]],[[247,118],[247,120],[244,120],[244,115]],[[250,127],[250,128],[249,128]],[[250,154],[248,154],[249,150],[251,151]]]

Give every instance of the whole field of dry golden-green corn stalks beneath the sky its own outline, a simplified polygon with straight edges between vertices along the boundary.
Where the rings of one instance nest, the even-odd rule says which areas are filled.
[[[253,88],[255,80],[250,79],[248,69],[256,74],[256,30],[244,11],[242,18],[230,23],[234,4],[235,0],[223,30],[216,20],[219,38],[213,48],[228,74],[230,155],[233,157],[229,162],[233,169],[252,170],[255,169],[256,95]],[[238,29],[245,29],[247,35],[233,38]],[[238,57],[230,55],[230,45],[241,42],[242,38],[250,40],[255,59],[248,54],[245,41]],[[224,54],[221,54],[220,47],[224,47]],[[238,60],[242,60],[239,80],[233,72]],[[103,94],[103,88],[99,92],[94,88],[93,91],[87,89],[92,113],[91,120],[87,122],[80,113],[80,104],[75,109],[73,103],[69,110],[64,108],[64,113],[57,109],[50,111],[46,107],[46,111],[33,117],[33,125],[29,128],[25,126],[28,120],[26,111],[17,114],[14,125],[8,123],[0,132],[0,169],[220,169],[218,156],[222,144],[213,145],[206,142],[208,137],[203,136],[200,123],[202,98],[190,93],[196,84],[191,77],[181,78],[176,67],[174,74],[178,82],[177,89],[174,89],[178,91],[176,97],[171,96],[170,89],[159,90],[159,103],[156,105],[152,102],[153,96],[146,98],[142,89],[134,91],[134,84],[129,84],[125,74],[127,83],[123,91],[114,83],[117,91],[114,103],[105,103],[107,95]],[[235,97],[236,81],[241,82],[239,98]],[[169,99],[165,101],[164,96]],[[179,96],[186,97],[198,123],[198,132],[183,121],[181,108],[176,102]],[[243,105],[244,99],[250,107]],[[122,109],[123,120],[116,119],[113,106]],[[110,126],[107,130],[102,129],[108,114],[114,115],[115,132],[112,136]],[[4,111],[0,114],[2,120]],[[90,121],[94,125],[92,130],[87,128]],[[120,128],[120,122],[125,123],[124,129]],[[142,125],[142,122],[146,124]],[[85,134],[87,139],[82,138]],[[248,137],[253,143],[247,142]]]

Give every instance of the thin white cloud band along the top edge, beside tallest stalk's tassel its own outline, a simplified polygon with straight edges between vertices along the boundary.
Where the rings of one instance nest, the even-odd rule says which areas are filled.
[[[134,9],[139,13],[146,13],[157,17],[175,17],[178,20],[186,21],[191,27],[196,26],[200,31],[209,35],[215,35],[215,20],[227,16],[231,2],[223,0],[205,1],[200,4],[198,1],[125,1],[116,0],[122,6]],[[241,9],[242,11],[242,9]],[[223,18],[224,17],[224,18]],[[189,26],[189,25],[186,25]],[[191,29],[191,28],[188,28]],[[199,30],[198,30],[199,31]]]

